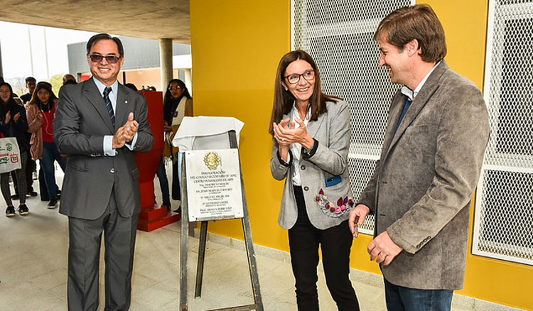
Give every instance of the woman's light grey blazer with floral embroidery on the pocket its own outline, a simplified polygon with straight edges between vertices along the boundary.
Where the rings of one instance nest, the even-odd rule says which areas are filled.
[[[348,219],[354,201],[348,177],[348,104],[344,101],[327,102],[326,107],[327,112],[307,124],[308,133],[318,141],[316,153],[308,159],[302,156],[298,165],[307,214],[311,224],[318,229],[328,229]],[[283,119],[287,117],[289,115],[284,115]],[[291,229],[298,217],[292,185],[294,168],[292,163],[289,167],[281,164],[276,140],[272,146],[270,170],[276,180],[285,179],[278,222],[284,229]],[[326,185],[326,180],[332,179],[338,183],[330,185],[328,182],[329,186]]]

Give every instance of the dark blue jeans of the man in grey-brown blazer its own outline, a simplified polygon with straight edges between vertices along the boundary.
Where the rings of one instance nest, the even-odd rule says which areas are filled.
[[[418,290],[385,283],[385,300],[389,311],[449,311],[453,290]]]

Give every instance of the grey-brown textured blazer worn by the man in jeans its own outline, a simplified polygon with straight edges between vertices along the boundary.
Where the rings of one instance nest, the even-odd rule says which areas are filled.
[[[382,153],[359,203],[404,251],[384,277],[419,289],[463,288],[470,204],[489,136],[483,95],[442,61],[400,124],[406,97],[389,109]]]

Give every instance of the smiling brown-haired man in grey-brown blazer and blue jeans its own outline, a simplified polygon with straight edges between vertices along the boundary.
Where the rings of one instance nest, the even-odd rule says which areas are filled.
[[[350,212],[350,229],[375,215],[371,260],[380,263],[389,310],[450,310],[464,283],[470,205],[488,142],[478,87],[450,70],[430,6],[397,9],[375,32],[391,81],[382,153]]]

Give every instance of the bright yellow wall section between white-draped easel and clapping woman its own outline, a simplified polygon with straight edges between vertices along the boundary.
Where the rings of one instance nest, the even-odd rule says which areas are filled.
[[[290,50],[290,4],[271,1],[190,1],[194,113],[235,116],[254,242],[289,250],[277,225],[283,184],[270,175],[268,133],[276,67]],[[239,220],[210,222],[216,234],[242,238]]]

